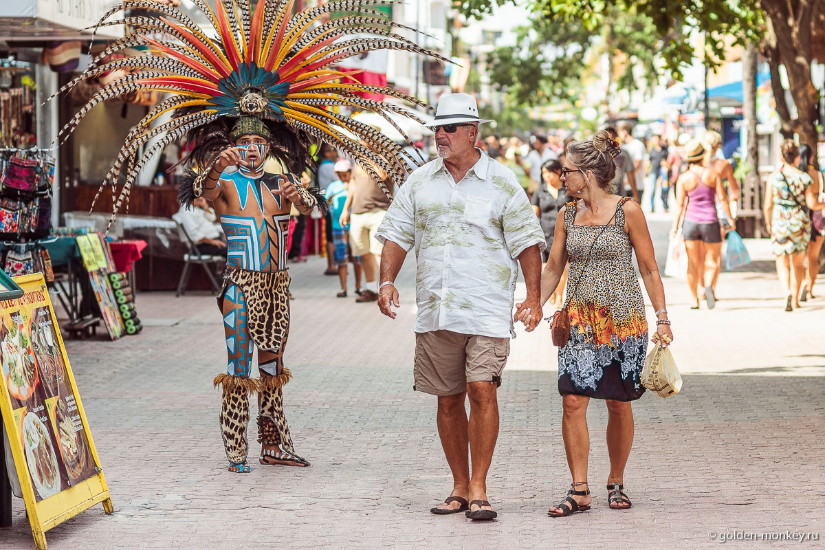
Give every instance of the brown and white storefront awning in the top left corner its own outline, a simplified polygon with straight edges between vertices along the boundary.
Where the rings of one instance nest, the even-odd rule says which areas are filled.
[[[91,31],[80,31],[96,25],[111,5],[111,0],[0,2],[0,40],[15,43],[91,39]],[[122,25],[101,27],[97,31],[101,39],[120,36],[123,36]]]

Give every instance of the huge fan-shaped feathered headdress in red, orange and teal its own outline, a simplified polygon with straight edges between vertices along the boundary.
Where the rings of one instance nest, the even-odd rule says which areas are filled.
[[[284,126],[299,139],[309,134],[326,141],[359,162],[388,195],[389,190],[375,168],[400,182],[407,173],[406,159],[417,162],[378,130],[329,109],[346,106],[374,110],[395,125],[388,115],[394,112],[423,124],[409,110],[361,95],[374,92],[429,108],[427,104],[389,87],[342,83],[347,73],[331,68],[342,59],[377,49],[406,50],[448,61],[394,31],[414,29],[371,9],[391,4],[391,0],[333,0],[295,14],[295,0],[258,0],[257,4],[253,0],[216,0],[214,12],[205,0],[192,2],[214,27],[214,36],[206,35],[190,16],[175,7],[154,0],[123,0],[106,12],[97,26],[125,24],[132,30],[115,40],[92,60],[84,73],[57,92],[64,92],[85,78],[116,69],[126,71],[125,76],[101,87],[69,120],[60,136],[71,133],[101,101],[140,90],[172,94],[130,129],[106,174],[101,190],[111,185],[114,199],[121,172],[126,172],[113,218],[123,201],[128,200],[130,186],[153,154],[186,134],[210,134],[203,128],[206,125],[219,122],[217,126],[225,129],[224,117],[253,115],[265,120],[267,126]],[[117,12],[131,9],[157,16],[127,15],[121,20],[106,21]],[[357,15],[319,21],[333,12]],[[111,54],[140,46],[147,47],[142,54],[97,64]],[[170,110],[174,111],[172,120],[152,126],[158,116]],[[141,152],[148,143],[150,147]]]

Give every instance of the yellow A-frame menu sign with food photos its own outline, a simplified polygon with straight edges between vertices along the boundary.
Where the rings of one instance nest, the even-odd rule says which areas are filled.
[[[43,275],[14,282],[23,296],[0,301],[0,412],[31,533],[45,550],[55,525],[98,502],[106,514],[113,508]]]

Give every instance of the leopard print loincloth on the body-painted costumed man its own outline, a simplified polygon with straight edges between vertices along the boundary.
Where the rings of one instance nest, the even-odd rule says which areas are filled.
[[[290,275],[286,270],[253,271],[227,266],[224,287],[218,294],[223,310],[224,293],[237,284],[247,305],[247,331],[259,350],[277,352],[290,330]]]

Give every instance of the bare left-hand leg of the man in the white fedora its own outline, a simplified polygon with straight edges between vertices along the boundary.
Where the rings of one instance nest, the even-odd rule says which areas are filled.
[[[467,411],[464,410],[466,393],[438,397],[438,435],[450,471],[453,473],[453,491],[450,496],[467,499],[469,495],[469,451]],[[443,510],[458,510],[459,502],[441,504]]]

